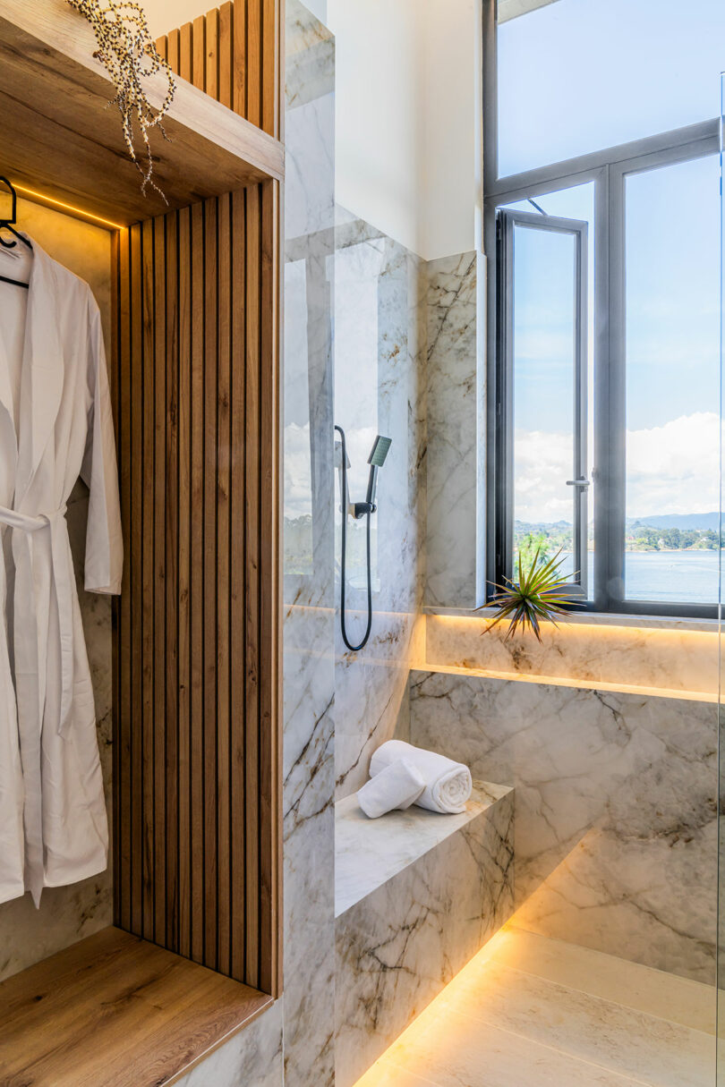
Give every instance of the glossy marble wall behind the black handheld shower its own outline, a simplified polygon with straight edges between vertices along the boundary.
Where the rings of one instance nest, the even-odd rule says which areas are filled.
[[[425,264],[373,226],[337,210],[335,232],[335,422],[347,436],[351,501],[367,486],[376,434],[392,438],[373,517],[373,627],[367,646],[346,650],[335,629],[335,764],[338,796],[367,778],[370,757],[404,716],[416,654],[423,586],[425,473]],[[340,491],[336,486],[336,605],[339,607]],[[348,523],[347,623],[364,630],[365,525]]]

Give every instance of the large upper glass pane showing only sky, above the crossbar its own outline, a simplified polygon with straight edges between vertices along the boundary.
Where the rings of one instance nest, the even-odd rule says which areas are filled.
[[[717,114],[723,0],[499,0],[499,20],[501,177]]]

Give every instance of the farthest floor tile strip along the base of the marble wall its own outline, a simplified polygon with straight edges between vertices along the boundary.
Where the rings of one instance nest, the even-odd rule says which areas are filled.
[[[486,945],[486,954],[502,966],[525,971],[695,1030],[715,1033],[714,986],[524,932],[516,927],[515,917]]]

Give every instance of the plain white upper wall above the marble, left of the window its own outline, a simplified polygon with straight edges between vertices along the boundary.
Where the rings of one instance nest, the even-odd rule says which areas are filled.
[[[327,0],[337,201],[428,260],[474,247],[478,0]]]

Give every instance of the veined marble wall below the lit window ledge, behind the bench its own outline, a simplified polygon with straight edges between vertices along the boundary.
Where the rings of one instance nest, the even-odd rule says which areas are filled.
[[[515,787],[516,924],[714,983],[715,704],[413,672],[410,714]]]

